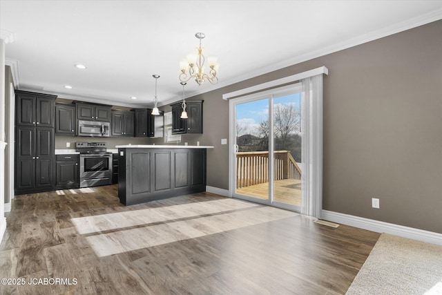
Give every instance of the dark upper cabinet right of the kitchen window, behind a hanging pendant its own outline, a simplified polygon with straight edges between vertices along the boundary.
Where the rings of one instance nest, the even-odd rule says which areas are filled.
[[[172,134],[202,133],[202,102],[186,102],[187,119],[181,118],[181,102],[172,105]]]

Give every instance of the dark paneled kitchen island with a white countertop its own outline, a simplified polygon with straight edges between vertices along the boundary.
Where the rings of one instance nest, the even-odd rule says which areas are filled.
[[[213,146],[122,145],[118,198],[140,204],[206,191],[206,151]]]

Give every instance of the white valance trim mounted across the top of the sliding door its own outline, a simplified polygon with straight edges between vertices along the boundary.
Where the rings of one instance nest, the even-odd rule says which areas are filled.
[[[253,92],[257,92],[257,91],[263,91],[267,88],[273,88],[282,84],[287,84],[290,82],[294,82],[296,80],[300,80],[300,79],[305,79],[308,77],[313,77],[316,75],[321,75],[321,74],[325,74],[328,75],[329,74],[329,70],[328,68],[326,68],[325,66],[320,66],[319,68],[314,68],[312,70],[307,70],[305,72],[302,73],[298,73],[295,75],[291,75],[288,77],[283,77],[280,79],[276,79],[273,81],[269,81],[269,82],[265,82],[262,84],[258,84],[255,86],[251,86],[248,88],[244,88],[244,89],[240,89],[238,91],[233,91],[231,93],[224,93],[222,95],[222,99],[227,100],[230,99],[232,97],[238,97],[238,96],[242,96],[242,95],[246,95],[247,93],[253,93]]]

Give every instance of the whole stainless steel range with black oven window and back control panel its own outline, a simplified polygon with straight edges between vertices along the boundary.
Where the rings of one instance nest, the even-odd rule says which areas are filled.
[[[75,142],[80,153],[80,187],[112,184],[112,153],[106,142]]]

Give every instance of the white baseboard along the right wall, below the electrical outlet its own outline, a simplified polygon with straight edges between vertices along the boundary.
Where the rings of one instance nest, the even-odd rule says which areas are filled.
[[[442,245],[442,234],[434,233],[432,231],[424,231],[423,229],[414,229],[413,227],[404,227],[403,225],[394,225],[393,223],[327,210],[321,212],[321,219],[358,227],[360,229],[367,229],[369,231],[376,231],[378,233],[393,234],[403,238],[411,238],[413,240],[421,240],[423,242]]]

